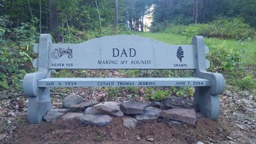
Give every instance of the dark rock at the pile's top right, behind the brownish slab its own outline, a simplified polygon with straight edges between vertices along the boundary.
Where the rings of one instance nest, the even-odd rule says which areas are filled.
[[[164,106],[169,108],[194,109],[196,111],[197,104],[194,100],[182,99],[180,97],[166,97],[163,99]]]

